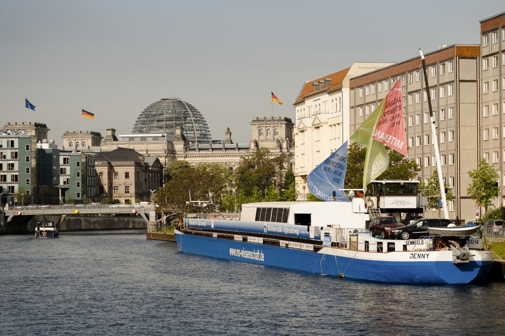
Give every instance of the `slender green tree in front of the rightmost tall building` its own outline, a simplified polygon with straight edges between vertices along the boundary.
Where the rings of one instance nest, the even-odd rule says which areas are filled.
[[[487,212],[493,199],[500,194],[497,183],[498,173],[486,160],[482,160],[477,165],[477,169],[469,171],[468,175],[472,180],[467,188],[468,196],[479,203],[484,208],[484,212]]]

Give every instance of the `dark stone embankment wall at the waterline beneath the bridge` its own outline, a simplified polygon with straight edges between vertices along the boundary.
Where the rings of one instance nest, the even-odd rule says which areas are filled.
[[[1,220],[2,218],[0,218]],[[23,235],[35,232],[37,221],[59,223],[60,215],[16,216],[0,226],[0,235]],[[146,229],[147,222],[141,216],[66,216],[58,226],[59,231]]]

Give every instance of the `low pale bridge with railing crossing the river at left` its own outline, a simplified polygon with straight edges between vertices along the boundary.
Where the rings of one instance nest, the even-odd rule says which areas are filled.
[[[63,205],[25,205],[25,206],[6,206],[5,214],[7,222],[11,221],[14,216],[27,215],[62,215],[62,219],[66,215],[115,215],[115,214],[139,214],[145,221],[149,221],[149,211],[153,211],[153,218],[156,218],[154,205],[152,208],[144,206],[133,206],[125,204],[63,204]]]

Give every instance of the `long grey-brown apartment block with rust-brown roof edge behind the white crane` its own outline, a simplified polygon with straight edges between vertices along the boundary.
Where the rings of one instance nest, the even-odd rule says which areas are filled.
[[[443,46],[427,53],[428,88],[421,58],[397,63],[350,80],[350,132],[354,132],[401,81],[403,114],[409,158],[422,167],[419,180],[427,182],[436,170],[435,151],[429,125],[428,92],[440,148],[443,177],[455,199],[448,203],[449,217],[471,218],[474,203],[467,197],[468,171],[480,159],[475,139],[479,104],[479,45]],[[428,90],[428,91],[427,91]],[[438,212],[433,211],[432,216]]]

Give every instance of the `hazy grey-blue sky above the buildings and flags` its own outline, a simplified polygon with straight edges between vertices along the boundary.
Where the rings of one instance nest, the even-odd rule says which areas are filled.
[[[0,1],[0,123],[45,123],[49,138],[130,133],[141,111],[178,97],[249,141],[252,118],[294,121],[305,81],[352,62],[399,62],[441,44],[478,44],[503,1]]]

